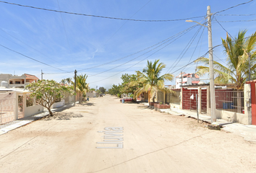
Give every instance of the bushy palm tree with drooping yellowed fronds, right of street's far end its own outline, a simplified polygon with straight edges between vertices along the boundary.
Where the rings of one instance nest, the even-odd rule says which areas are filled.
[[[161,71],[166,67],[163,63],[158,63],[159,60],[155,60],[154,63],[148,61],[148,65],[141,71],[136,71],[138,80],[132,81],[131,85],[135,86],[142,83],[143,86],[135,91],[135,98],[139,97],[142,92],[148,92],[148,102],[150,98],[155,102],[155,94],[158,91],[171,92],[171,90],[164,87],[164,81],[172,81],[174,76],[172,74],[163,74]]]

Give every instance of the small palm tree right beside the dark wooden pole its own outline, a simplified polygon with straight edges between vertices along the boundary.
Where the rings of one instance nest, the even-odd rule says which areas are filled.
[[[79,75],[77,76],[77,80],[76,80],[76,90],[77,92],[80,94],[80,100],[79,103],[82,103],[82,97],[84,96],[84,94],[86,94],[86,92],[88,92],[89,89],[89,84],[86,83],[86,79],[88,78],[88,76],[85,75]],[[72,84],[74,85],[74,82],[71,81]]]

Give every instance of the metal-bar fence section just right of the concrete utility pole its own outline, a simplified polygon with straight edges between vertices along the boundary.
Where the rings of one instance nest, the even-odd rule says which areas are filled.
[[[244,113],[244,92],[216,89],[216,109]]]

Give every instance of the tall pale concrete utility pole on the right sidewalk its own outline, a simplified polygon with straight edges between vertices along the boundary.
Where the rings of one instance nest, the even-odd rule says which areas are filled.
[[[215,86],[213,74],[213,39],[212,39],[212,25],[211,25],[210,6],[207,6],[208,18],[208,45],[209,45],[209,70],[210,70],[210,117],[211,123],[216,122],[216,101],[215,101]]]

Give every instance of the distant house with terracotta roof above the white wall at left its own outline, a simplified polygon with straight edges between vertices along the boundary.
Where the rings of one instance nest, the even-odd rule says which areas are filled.
[[[9,88],[24,88],[27,84],[38,81],[38,77],[32,74],[22,74],[21,76],[0,74],[0,83],[1,81],[7,81],[7,87]]]

